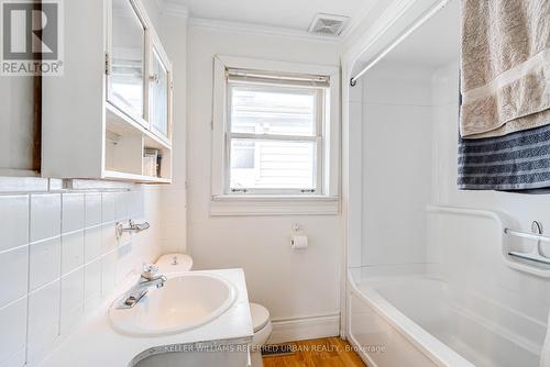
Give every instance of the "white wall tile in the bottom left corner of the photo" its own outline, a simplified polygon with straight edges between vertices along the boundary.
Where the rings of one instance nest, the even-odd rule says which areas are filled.
[[[26,343],[26,297],[0,308],[0,325],[2,325],[0,366],[23,366]]]

